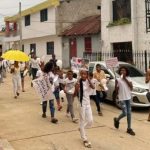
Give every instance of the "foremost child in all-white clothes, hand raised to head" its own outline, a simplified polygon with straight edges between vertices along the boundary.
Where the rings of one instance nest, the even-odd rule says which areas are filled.
[[[90,105],[91,89],[94,89],[90,79],[88,79],[87,69],[81,69],[79,80],[79,99],[80,99],[80,135],[85,147],[91,148],[91,143],[88,141],[85,128],[89,128],[93,123],[92,109]]]

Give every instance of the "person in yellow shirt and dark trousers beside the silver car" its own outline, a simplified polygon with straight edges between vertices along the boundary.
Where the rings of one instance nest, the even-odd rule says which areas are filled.
[[[96,95],[97,95],[97,99],[99,100],[99,103],[101,104],[102,102],[104,102],[106,98],[106,92],[104,91],[104,87],[101,83],[101,80],[106,79],[106,75],[105,72],[101,70],[100,64],[96,65],[96,71],[93,73],[93,77],[98,81],[96,85]],[[102,111],[99,112],[99,115],[101,116],[103,115]]]

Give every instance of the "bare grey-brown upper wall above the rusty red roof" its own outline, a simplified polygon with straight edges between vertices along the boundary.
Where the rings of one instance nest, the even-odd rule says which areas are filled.
[[[70,26],[72,23],[92,15],[99,15],[97,6],[101,0],[70,0],[69,3],[62,2],[57,8],[57,34]]]

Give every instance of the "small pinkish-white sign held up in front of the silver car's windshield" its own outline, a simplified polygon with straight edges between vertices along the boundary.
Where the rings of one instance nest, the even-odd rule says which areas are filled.
[[[106,60],[106,67],[107,68],[112,69],[112,68],[116,68],[118,66],[119,66],[119,64],[118,64],[118,58],[117,57],[113,57],[113,58]]]

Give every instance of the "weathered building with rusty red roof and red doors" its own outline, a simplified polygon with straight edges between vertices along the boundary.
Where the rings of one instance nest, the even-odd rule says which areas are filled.
[[[57,33],[62,36],[62,60],[65,68],[69,66],[72,57],[83,57],[85,52],[100,51],[100,1],[64,0],[57,8]],[[86,19],[95,16],[94,20]],[[96,26],[92,26],[91,21],[97,21]],[[96,32],[92,31],[94,28]]]

